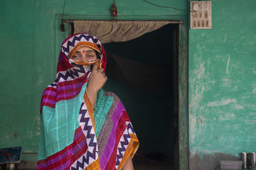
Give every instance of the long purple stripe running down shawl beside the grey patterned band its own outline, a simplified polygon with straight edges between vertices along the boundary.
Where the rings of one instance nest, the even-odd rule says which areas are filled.
[[[106,168],[108,160],[111,157],[111,153],[114,150],[115,141],[116,141],[116,126],[118,124],[120,117],[122,116],[121,114],[122,110],[125,110],[125,108],[122,102],[119,101],[118,104],[116,104],[116,108],[113,111],[113,114],[111,117],[113,121],[113,127],[111,129],[111,134],[109,135],[109,138],[108,138],[108,143],[106,144],[104,151],[100,157],[100,167],[102,167],[102,169]]]

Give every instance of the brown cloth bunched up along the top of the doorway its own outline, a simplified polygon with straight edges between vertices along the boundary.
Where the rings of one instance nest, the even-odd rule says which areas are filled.
[[[170,21],[102,21],[74,20],[74,33],[83,32],[100,39],[102,43],[122,42],[155,31]]]

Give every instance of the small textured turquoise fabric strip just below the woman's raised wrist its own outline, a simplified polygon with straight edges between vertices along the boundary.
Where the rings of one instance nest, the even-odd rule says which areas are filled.
[[[104,90],[100,89],[97,94],[97,99],[95,102],[95,131],[98,138],[100,130],[105,122],[106,115],[108,114],[109,109],[113,103],[112,96],[104,96]]]

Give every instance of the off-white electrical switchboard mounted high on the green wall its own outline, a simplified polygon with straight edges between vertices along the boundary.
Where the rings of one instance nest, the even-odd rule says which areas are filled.
[[[212,1],[190,1],[190,29],[212,28]]]

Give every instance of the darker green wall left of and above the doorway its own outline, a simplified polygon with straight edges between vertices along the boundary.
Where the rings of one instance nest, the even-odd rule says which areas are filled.
[[[42,91],[56,76],[63,2],[42,0],[0,1],[0,148],[22,146],[38,150]],[[66,0],[65,18],[111,20],[113,1]],[[186,9],[187,1],[152,1]],[[186,11],[159,8],[143,1],[116,1],[119,20],[183,20]]]

